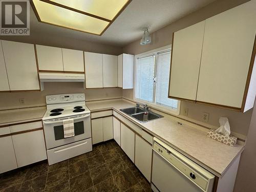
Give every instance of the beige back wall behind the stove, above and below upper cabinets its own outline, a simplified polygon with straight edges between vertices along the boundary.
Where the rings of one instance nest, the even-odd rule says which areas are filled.
[[[119,55],[122,53],[121,47],[104,45],[97,42],[69,37],[64,38],[47,33],[31,32],[30,36],[1,36],[0,39],[113,55]],[[122,96],[122,91],[119,88],[84,90],[82,83],[80,82],[48,82],[45,83],[45,85],[45,90],[42,92],[29,91],[17,93],[0,93],[0,110],[45,105],[45,96],[51,94],[85,93],[87,100],[117,98]],[[19,104],[19,98],[25,99],[25,105]]]

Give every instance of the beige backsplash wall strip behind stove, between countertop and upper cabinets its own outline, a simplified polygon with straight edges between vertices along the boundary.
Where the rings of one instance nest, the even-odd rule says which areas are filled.
[[[122,97],[121,88],[84,90],[82,82],[46,82],[44,91],[0,93],[0,110],[46,105],[46,95],[66,93],[85,93],[87,101]],[[25,99],[24,105],[19,98]]]

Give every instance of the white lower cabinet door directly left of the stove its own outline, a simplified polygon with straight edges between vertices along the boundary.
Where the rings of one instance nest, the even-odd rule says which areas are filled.
[[[47,159],[42,130],[12,135],[18,167]]]

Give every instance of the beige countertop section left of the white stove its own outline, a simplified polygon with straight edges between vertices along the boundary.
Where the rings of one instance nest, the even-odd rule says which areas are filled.
[[[41,120],[45,112],[45,107],[0,111],[0,126]]]

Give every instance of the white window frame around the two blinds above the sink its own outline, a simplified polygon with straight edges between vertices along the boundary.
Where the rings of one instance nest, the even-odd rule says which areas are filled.
[[[156,54],[156,58],[155,58],[155,71],[154,71],[155,77],[156,77],[156,73],[157,73],[156,72],[156,68],[157,68],[157,65],[156,65],[157,53],[164,52],[164,51],[167,51],[167,50],[172,51],[172,46],[171,45],[167,45],[167,46],[164,46],[164,47],[161,47],[161,48],[157,48],[157,49],[154,49],[154,50],[151,50],[151,51],[147,51],[147,52],[144,52],[144,53],[140,53],[140,54],[137,54],[137,55],[134,56],[134,63],[135,63],[135,65],[134,65],[133,100],[136,101],[136,102],[145,103],[148,106],[152,106],[153,108],[155,108],[157,110],[161,110],[163,112],[167,112],[167,113],[174,114],[174,115],[179,115],[180,114],[180,103],[181,103],[180,100],[177,99],[178,100],[177,110],[156,103],[156,83],[154,83],[153,102],[145,101],[145,100],[136,98],[136,91],[137,91],[136,90],[137,89],[137,82],[136,81],[137,81],[137,64],[138,64],[137,61],[138,61],[138,58],[139,57],[146,57],[146,56],[150,56],[150,55]]]

